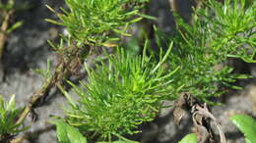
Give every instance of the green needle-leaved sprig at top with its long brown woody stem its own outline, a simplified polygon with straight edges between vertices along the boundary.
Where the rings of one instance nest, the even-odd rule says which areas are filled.
[[[52,42],[49,42],[53,49],[60,55],[59,62],[52,73],[48,69],[47,73],[43,74],[43,76],[46,77],[45,82],[32,95],[31,101],[26,105],[25,110],[17,121],[18,123],[26,119],[32,109],[36,107],[36,103],[40,99],[45,98],[48,94],[48,91],[52,87],[61,83],[62,80],[70,75],[70,73],[74,73],[78,69],[78,67],[84,62],[85,58],[89,55],[89,53],[95,54],[93,52],[101,48],[103,43],[101,43],[100,40],[94,41],[94,39],[98,39],[96,37],[109,40],[109,38],[107,37],[108,34],[106,33],[110,32],[110,27],[113,30],[115,29],[114,31],[117,31],[117,26],[126,27],[128,24],[139,21],[141,18],[132,18],[132,16],[136,16],[138,14],[138,10],[134,10],[133,8],[138,9],[138,7],[131,7],[131,9],[129,9],[130,7],[126,7],[126,5],[129,6],[130,4],[141,4],[146,2],[146,0],[106,0],[100,2],[98,0],[65,0],[65,2],[68,6],[68,10],[61,8],[62,13],[57,13],[52,8],[47,6],[49,10],[51,10],[59,17],[61,22],[56,22],[53,20],[47,21],[53,24],[65,25],[69,31],[69,34],[67,36],[61,35],[61,41],[59,45],[55,45]],[[113,4],[116,7],[112,7],[111,5]],[[98,15],[96,13],[96,10],[105,11],[101,11],[102,14]],[[107,14],[111,15],[108,16]],[[113,17],[114,19],[112,18],[112,14],[114,14],[113,16],[115,16]],[[123,17],[121,15],[123,15]],[[96,22],[94,23],[94,25],[92,25],[91,23],[94,22],[94,19],[96,17],[98,17],[98,19],[96,19]],[[121,20],[123,21],[122,23]],[[97,26],[100,25],[99,27],[101,28],[107,26],[108,24],[111,24],[109,25],[109,29],[104,28],[101,31],[96,30],[98,29]],[[90,34],[88,33],[88,31],[90,31]]]

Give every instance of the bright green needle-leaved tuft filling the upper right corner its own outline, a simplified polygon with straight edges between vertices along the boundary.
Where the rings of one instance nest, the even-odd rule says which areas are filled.
[[[224,58],[235,57],[247,63],[255,63],[256,2],[246,6],[246,0],[226,0],[222,6],[212,0],[208,7],[209,9],[201,11],[200,14],[204,15],[204,21],[211,30],[210,46]]]

